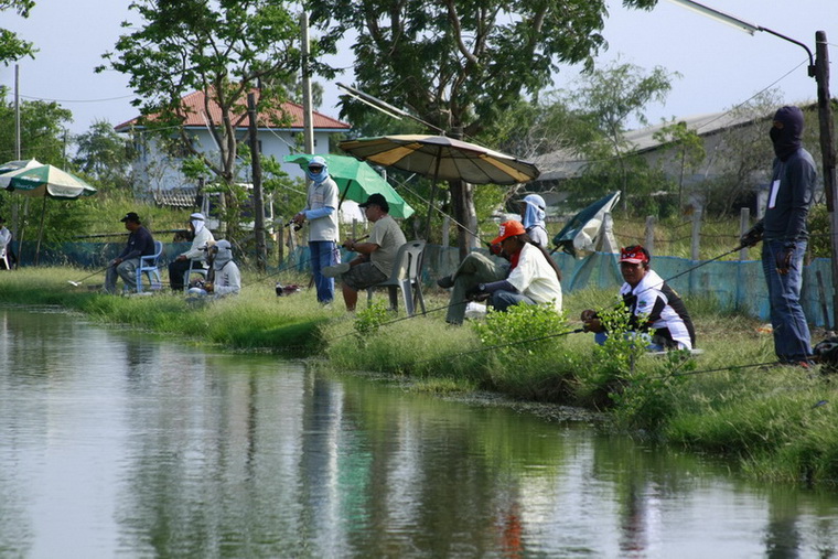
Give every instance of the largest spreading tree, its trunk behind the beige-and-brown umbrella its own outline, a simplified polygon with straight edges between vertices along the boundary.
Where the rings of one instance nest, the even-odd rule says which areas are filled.
[[[655,0],[624,0],[649,8]],[[479,137],[498,115],[551,80],[559,63],[584,63],[605,46],[603,0],[312,0],[311,21],[333,46],[346,31],[359,89],[408,108],[447,133]],[[330,23],[335,25],[330,28]],[[351,120],[368,108],[344,104]],[[455,218],[476,228],[471,186],[449,184]],[[459,230],[461,255],[470,245]]]

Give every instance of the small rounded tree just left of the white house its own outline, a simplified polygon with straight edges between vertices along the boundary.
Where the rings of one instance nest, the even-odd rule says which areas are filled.
[[[97,120],[75,138],[76,166],[96,179],[99,187],[126,190],[130,181],[130,154],[114,127],[106,120]]]

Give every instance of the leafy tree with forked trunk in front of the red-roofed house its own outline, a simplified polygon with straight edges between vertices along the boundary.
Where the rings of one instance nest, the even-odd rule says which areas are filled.
[[[120,36],[116,52],[104,55],[110,67],[130,76],[138,95],[133,104],[148,117],[143,123],[163,136],[174,128],[182,148],[201,160],[222,187],[230,187],[237,174],[236,123],[246,112],[247,94],[262,86],[257,111],[265,114],[280,107],[282,84],[293,83],[300,33],[287,7],[282,0],[137,0],[131,9],[144,23]],[[193,90],[206,94],[206,115],[213,103],[221,112],[207,125],[217,158],[200,150],[181,126],[187,110],[181,99]],[[226,194],[226,221],[235,228],[237,219],[230,217],[238,215],[238,207],[233,191]]]

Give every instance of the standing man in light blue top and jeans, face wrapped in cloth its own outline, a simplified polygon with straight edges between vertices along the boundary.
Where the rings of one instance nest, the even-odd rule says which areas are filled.
[[[318,301],[329,304],[334,299],[334,278],[326,278],[322,270],[340,262],[337,249],[337,184],[329,176],[326,160],[311,158],[307,176],[311,181],[305,208],[293,217],[302,225],[309,222],[309,254]]]

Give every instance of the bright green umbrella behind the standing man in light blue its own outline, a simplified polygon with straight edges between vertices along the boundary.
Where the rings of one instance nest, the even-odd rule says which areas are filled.
[[[296,153],[286,155],[283,160],[297,163],[305,170],[309,166],[309,160],[313,157],[314,154],[310,153]],[[413,208],[369,164],[345,155],[320,157],[326,160],[329,175],[337,183],[341,201],[348,198],[363,203],[370,194],[378,193],[384,195],[389,203],[393,217],[410,217],[413,214]]]

